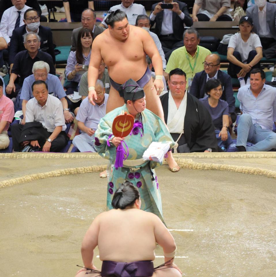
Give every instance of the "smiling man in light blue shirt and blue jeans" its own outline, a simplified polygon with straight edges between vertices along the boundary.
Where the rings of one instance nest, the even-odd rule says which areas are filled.
[[[276,148],[276,88],[265,85],[261,69],[250,72],[250,86],[239,89],[241,117],[238,123],[237,148],[239,151],[269,151]],[[246,146],[246,142],[255,145]]]

